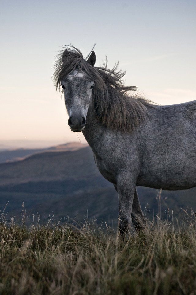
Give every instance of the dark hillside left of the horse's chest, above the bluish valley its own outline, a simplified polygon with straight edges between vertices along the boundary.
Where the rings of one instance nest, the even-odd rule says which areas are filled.
[[[88,161],[88,159],[90,159]],[[0,185],[98,175],[89,147],[77,151],[43,152],[22,161],[0,164]],[[77,170],[77,171],[76,171]]]

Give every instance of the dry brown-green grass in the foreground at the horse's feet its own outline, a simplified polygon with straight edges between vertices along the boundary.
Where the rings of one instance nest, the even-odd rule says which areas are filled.
[[[121,241],[85,223],[0,223],[0,294],[196,294],[196,221],[153,219]],[[35,224],[36,223],[36,224]]]

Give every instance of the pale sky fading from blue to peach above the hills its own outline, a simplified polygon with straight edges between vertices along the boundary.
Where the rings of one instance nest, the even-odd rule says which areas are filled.
[[[0,149],[85,142],[52,81],[70,43],[158,104],[196,100],[195,1],[0,1]]]

